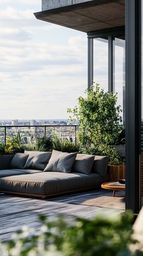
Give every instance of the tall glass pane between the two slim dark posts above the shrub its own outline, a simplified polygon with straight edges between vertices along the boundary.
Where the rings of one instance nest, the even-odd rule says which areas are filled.
[[[93,81],[108,91],[108,40],[93,40]]]

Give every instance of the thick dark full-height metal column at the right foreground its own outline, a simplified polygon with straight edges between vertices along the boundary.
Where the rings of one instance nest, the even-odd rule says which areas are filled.
[[[141,9],[140,9],[141,10]],[[138,32],[139,6],[136,0],[125,0],[125,207],[139,211],[139,153],[141,125],[141,40]]]

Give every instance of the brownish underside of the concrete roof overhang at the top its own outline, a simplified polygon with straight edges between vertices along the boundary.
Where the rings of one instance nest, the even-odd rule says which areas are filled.
[[[86,5],[70,5],[35,13],[36,18],[70,27],[82,32],[109,29],[125,25],[125,0],[88,1]],[[92,5],[91,5],[92,2]],[[88,4],[90,3],[90,4]]]

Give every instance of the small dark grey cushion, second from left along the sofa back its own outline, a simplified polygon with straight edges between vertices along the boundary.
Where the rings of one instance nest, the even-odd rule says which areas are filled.
[[[12,161],[10,162],[10,168],[23,169],[27,158],[28,154],[16,153]]]

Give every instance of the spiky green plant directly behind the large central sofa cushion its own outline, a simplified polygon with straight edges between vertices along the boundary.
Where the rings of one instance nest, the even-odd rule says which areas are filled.
[[[58,136],[57,133],[53,133],[53,150],[58,150],[62,152],[77,152],[79,150],[79,146],[74,142],[70,142],[68,140],[62,139]]]

